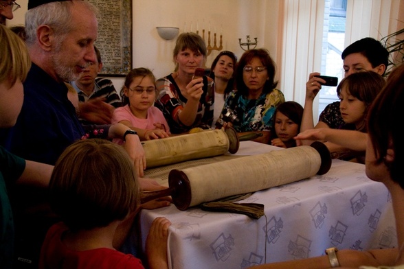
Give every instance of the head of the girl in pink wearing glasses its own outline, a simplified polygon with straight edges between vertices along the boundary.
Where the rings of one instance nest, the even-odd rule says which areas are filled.
[[[122,104],[129,104],[137,110],[147,110],[156,99],[155,75],[144,67],[132,69],[126,75],[120,95]]]

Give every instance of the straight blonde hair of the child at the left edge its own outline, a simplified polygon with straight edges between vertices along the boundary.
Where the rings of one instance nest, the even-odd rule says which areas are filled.
[[[30,71],[31,60],[24,41],[7,27],[0,25],[0,82],[14,85],[24,81]]]

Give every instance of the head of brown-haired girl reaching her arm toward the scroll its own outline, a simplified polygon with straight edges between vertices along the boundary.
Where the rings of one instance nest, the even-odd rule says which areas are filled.
[[[337,86],[339,110],[346,124],[363,126],[370,104],[383,89],[385,79],[376,72],[352,73]]]

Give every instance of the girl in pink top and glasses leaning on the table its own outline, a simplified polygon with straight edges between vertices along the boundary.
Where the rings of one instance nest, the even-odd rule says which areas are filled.
[[[163,113],[153,106],[156,84],[153,72],[135,68],[126,75],[121,90],[122,107],[113,111],[112,123],[117,122],[137,131],[142,140],[170,136],[170,128]]]

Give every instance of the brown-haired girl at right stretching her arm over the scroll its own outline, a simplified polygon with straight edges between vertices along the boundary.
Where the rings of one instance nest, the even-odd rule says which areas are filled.
[[[317,128],[305,130],[298,139],[325,141],[333,158],[364,163],[366,116],[368,108],[385,84],[385,79],[374,71],[352,73],[337,87],[339,109],[344,119],[338,129]],[[349,131],[349,132],[348,132]],[[353,142],[352,142],[353,141]],[[362,143],[361,143],[362,142]]]

